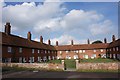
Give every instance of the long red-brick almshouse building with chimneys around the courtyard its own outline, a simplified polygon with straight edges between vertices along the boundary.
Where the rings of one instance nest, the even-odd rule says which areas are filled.
[[[2,34],[2,61],[3,62],[19,62],[32,63],[42,62],[54,59],[94,59],[94,58],[113,58],[120,60],[120,39],[115,39],[112,36],[112,42],[107,43],[106,38],[104,43],[90,44],[74,44],[71,40],[71,45],[51,45],[43,43],[43,37],[40,36],[40,42],[31,40],[31,33],[28,32],[27,38],[22,38],[11,34],[10,23],[5,25],[5,32]]]

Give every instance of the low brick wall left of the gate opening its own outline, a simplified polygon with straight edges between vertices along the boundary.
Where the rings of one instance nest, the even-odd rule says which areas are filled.
[[[60,69],[63,70],[64,65],[62,64],[54,64],[54,63],[2,63],[2,66],[17,66],[17,67],[25,67],[25,68],[36,68],[36,69]]]

